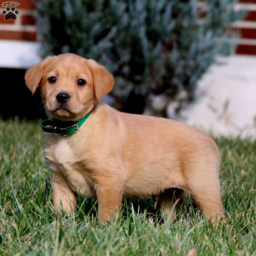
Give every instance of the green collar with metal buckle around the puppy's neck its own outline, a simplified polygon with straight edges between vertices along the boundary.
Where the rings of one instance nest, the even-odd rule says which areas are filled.
[[[45,132],[50,132],[56,134],[61,134],[62,136],[72,135],[78,132],[78,128],[86,121],[86,119],[90,116],[90,113],[86,114],[77,123],[71,125],[69,127],[61,128],[58,127],[52,119],[46,119],[41,122],[41,128]]]

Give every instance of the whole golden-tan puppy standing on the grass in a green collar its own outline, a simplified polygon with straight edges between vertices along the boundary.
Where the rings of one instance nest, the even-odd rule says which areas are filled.
[[[48,57],[26,72],[25,81],[32,94],[40,87],[54,127],[45,133],[44,155],[56,209],[73,212],[76,194],[95,198],[102,223],[116,214],[122,198],[156,195],[169,213],[177,188],[188,192],[207,218],[224,217],[220,156],[206,134],[174,120],[105,105],[101,99],[111,91],[113,76],[78,55]],[[70,125],[75,132],[64,134],[61,128]]]

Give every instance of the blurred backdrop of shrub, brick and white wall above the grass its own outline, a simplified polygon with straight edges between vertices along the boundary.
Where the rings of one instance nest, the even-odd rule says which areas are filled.
[[[256,0],[0,1],[0,117],[44,118],[24,74],[48,55],[93,58],[115,76],[104,101],[214,135],[256,137]]]

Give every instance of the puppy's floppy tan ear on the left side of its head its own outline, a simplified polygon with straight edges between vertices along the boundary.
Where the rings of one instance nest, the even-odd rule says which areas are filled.
[[[44,74],[44,70],[46,69],[52,58],[53,57],[47,57],[38,64],[30,67],[29,70],[26,71],[25,82],[26,86],[29,88],[29,90],[31,90],[32,95],[35,93],[37,87],[39,86],[41,78]]]

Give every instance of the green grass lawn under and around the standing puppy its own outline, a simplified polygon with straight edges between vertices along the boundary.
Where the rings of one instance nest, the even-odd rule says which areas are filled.
[[[213,228],[191,202],[186,220],[163,222],[148,200],[101,226],[88,199],[74,217],[52,208],[39,123],[0,121],[0,255],[256,255],[256,142],[216,141],[227,224]]]

